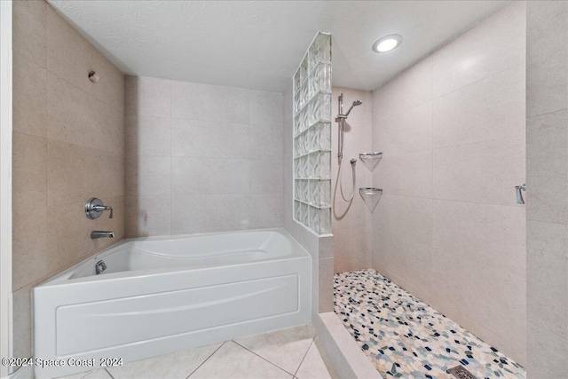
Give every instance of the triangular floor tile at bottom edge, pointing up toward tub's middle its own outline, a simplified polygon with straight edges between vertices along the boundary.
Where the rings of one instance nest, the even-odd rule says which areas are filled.
[[[163,377],[163,376],[162,376]],[[190,375],[191,379],[292,379],[292,375],[272,365],[233,341],[226,342]]]

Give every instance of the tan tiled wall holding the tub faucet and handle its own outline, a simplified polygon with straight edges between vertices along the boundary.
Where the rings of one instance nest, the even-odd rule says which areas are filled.
[[[99,83],[88,73],[96,70]],[[122,240],[122,73],[42,1],[13,4],[13,341],[31,348],[30,291]],[[89,220],[84,203],[114,206]],[[113,240],[91,240],[92,230]]]

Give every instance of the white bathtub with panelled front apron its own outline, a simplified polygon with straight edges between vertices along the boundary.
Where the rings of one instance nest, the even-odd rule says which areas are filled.
[[[283,229],[130,239],[33,304],[35,373],[51,378],[310,323],[311,258]]]

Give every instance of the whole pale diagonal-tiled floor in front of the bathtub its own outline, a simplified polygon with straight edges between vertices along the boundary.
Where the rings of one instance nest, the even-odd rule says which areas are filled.
[[[214,343],[64,379],[330,379],[311,325]]]

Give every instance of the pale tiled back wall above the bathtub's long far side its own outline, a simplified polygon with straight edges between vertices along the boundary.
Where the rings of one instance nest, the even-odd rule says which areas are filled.
[[[126,76],[126,235],[277,227],[282,95]]]

